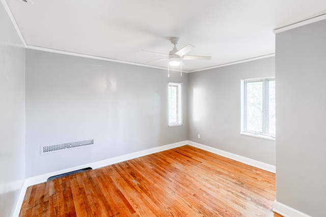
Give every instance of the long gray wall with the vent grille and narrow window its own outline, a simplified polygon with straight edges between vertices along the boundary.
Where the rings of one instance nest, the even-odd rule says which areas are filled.
[[[188,75],[26,49],[26,177],[187,139]],[[168,127],[168,82],[183,83],[183,125]],[[95,146],[40,154],[41,145]]]

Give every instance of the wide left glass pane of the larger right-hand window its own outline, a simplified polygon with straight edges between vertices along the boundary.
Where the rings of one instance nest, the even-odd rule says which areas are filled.
[[[263,82],[247,83],[247,131],[262,133]]]

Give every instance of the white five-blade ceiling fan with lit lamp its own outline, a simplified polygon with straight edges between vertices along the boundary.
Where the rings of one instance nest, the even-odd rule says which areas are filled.
[[[211,56],[185,56],[185,54],[188,53],[189,51],[191,51],[195,46],[193,46],[191,44],[188,44],[188,45],[184,46],[183,48],[181,48],[180,50],[178,50],[177,47],[176,47],[176,45],[179,42],[178,37],[171,37],[170,42],[174,45],[174,47],[169,52],[168,55],[163,54],[163,53],[156,53],[156,52],[144,50],[144,51],[159,54],[159,55],[162,55],[162,56],[167,56],[167,58],[164,58],[164,59],[149,61],[147,64],[168,59],[170,66],[179,66],[181,60],[209,60],[209,59],[211,59]]]

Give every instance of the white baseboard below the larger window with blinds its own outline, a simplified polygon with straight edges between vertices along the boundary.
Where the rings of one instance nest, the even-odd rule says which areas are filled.
[[[246,157],[243,157],[243,156],[239,156],[239,155],[237,155],[235,153],[220,150],[218,148],[213,148],[213,147],[203,145],[203,144],[193,142],[193,141],[188,141],[188,145],[191,145],[191,146],[194,146],[196,148],[200,148],[200,149],[203,149],[203,150],[215,153],[215,154],[219,154],[220,156],[223,156],[223,157],[226,157],[226,158],[232,159],[234,161],[238,161],[238,162],[241,162],[241,163],[253,166],[253,167],[257,167],[257,168],[260,168],[260,169],[263,169],[263,170],[266,170],[266,171],[269,171],[269,172],[272,172],[272,173],[275,173],[275,171],[276,171],[276,167],[273,166],[273,165],[266,164],[266,163],[256,161],[256,160],[253,160],[253,159],[250,159],[250,158],[246,158]]]

